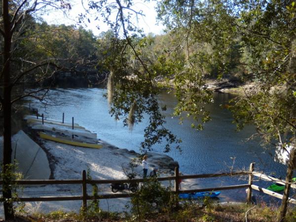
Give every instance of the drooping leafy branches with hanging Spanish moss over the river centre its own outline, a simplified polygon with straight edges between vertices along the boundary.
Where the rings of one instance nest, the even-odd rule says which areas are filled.
[[[169,151],[170,145],[178,144],[180,140],[165,128],[165,116],[161,110],[166,107],[161,107],[157,101],[160,88],[156,77],[161,74],[159,66],[150,63],[151,58],[146,50],[153,39],[144,37],[142,30],[131,20],[131,13],[142,16],[142,12],[133,9],[131,0],[116,0],[111,4],[106,0],[90,0],[88,6],[87,13],[95,11],[95,20],[99,21],[101,15],[101,19],[110,25],[112,31],[108,43],[110,48],[106,50],[106,59],[100,64],[104,70],[110,70],[107,97],[111,115],[115,119],[123,118],[124,124],[132,128],[147,114],[149,125],[145,129],[145,141],[141,148],[143,151],[150,150],[154,144],[164,140],[167,142],[164,151]],[[83,19],[89,20],[88,14],[81,15]]]

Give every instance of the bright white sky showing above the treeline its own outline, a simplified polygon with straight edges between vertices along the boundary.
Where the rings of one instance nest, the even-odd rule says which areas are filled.
[[[84,1],[84,6],[81,3],[81,0],[73,0],[71,1],[72,9],[67,12],[67,15],[63,14],[61,11],[54,11],[50,10],[47,11],[45,15],[43,15],[43,19],[48,24],[65,24],[65,25],[78,25],[78,14],[84,13],[85,9],[84,7],[87,6],[86,1]],[[142,10],[144,16],[138,17],[138,21],[135,16],[132,17],[134,20],[134,25],[143,28],[144,32],[146,34],[148,33],[154,33],[156,35],[162,34],[164,26],[161,24],[156,24],[156,11],[154,7],[156,6],[155,1],[150,2],[144,2],[144,0],[136,0],[135,4],[133,6],[133,9],[135,10]],[[104,24],[103,22],[98,22],[94,20],[94,17],[90,17],[90,23],[87,21],[83,24],[80,24],[83,26],[86,30],[92,30],[93,34],[95,36],[98,36],[101,32],[108,31],[109,27]],[[100,30],[96,27],[99,26]]]

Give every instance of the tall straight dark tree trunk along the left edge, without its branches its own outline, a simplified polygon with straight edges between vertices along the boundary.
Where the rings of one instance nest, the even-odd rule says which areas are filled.
[[[8,171],[11,170],[11,82],[10,82],[10,50],[12,30],[9,17],[8,0],[2,0],[2,17],[4,26],[3,48],[3,207],[5,220],[13,220],[13,203],[11,202],[11,178]]]

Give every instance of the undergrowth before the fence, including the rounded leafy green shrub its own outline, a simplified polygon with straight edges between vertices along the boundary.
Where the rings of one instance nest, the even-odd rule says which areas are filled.
[[[90,178],[88,172],[87,179]],[[92,185],[93,196],[99,188]],[[259,201],[252,204],[220,204],[211,198],[182,200],[155,179],[148,179],[131,197],[126,212],[106,212],[99,199],[88,201],[87,208],[79,213],[58,210],[42,214],[39,208],[19,212],[18,221],[30,222],[277,222],[277,204]],[[296,222],[296,207],[289,207],[286,222]]]

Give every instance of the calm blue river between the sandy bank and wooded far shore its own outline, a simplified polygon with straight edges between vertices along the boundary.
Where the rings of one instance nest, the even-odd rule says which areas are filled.
[[[139,151],[140,143],[144,139],[144,128],[148,119],[134,126],[133,130],[123,127],[121,121],[115,121],[109,114],[109,107],[103,94],[105,89],[54,89],[48,94],[48,105],[44,106],[37,101],[31,101],[31,107],[37,108],[39,113],[53,119],[62,119],[74,122],[98,134],[98,138],[119,148]],[[168,155],[179,162],[180,171],[184,174],[203,174],[229,172],[229,170],[249,169],[250,163],[255,162],[255,170],[265,174],[275,174],[277,178],[285,177],[286,166],[274,162],[274,151],[260,146],[259,139],[247,140],[255,133],[252,125],[236,132],[232,123],[230,111],[222,109],[233,95],[215,93],[214,103],[207,106],[212,120],[206,123],[204,130],[196,131],[190,127],[192,119],[185,118],[179,124],[178,117],[171,115],[176,99],[172,93],[162,93],[159,102],[167,105],[166,126],[178,138],[182,139],[180,152],[172,149]],[[49,105],[49,104],[59,105]],[[153,151],[162,152],[164,145],[155,145]],[[213,178],[199,179],[198,187],[213,187],[220,185],[246,184],[246,178]],[[266,187],[267,182],[258,181],[255,184]],[[245,190],[223,191],[227,201],[241,201],[246,197]],[[265,198],[265,197],[264,197]]]

